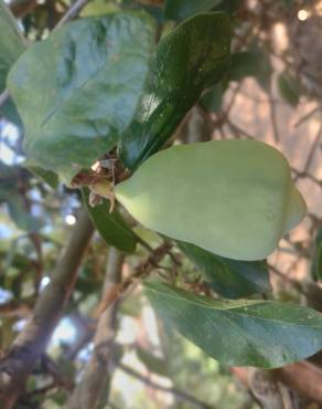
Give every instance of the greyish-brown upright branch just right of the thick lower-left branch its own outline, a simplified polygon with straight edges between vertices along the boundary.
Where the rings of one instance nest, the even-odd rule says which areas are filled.
[[[110,287],[121,281],[121,269],[124,254],[117,249],[110,248],[106,269],[103,297],[109,292]],[[94,336],[94,353],[86,365],[82,380],[77,384],[65,409],[96,409],[101,401],[108,399],[110,385],[111,356],[115,350],[114,337],[116,332],[117,303],[105,310],[98,319]]]

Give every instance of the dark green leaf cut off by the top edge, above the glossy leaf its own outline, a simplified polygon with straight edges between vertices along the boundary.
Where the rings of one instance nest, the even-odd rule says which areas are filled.
[[[201,11],[208,11],[219,2],[221,0],[167,0],[164,4],[164,19],[184,20]]]

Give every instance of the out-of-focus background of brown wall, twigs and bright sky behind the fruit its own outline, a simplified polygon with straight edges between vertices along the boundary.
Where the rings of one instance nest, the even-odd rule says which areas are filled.
[[[13,0],[8,4],[30,42],[45,39],[71,7],[68,0]],[[162,1],[94,0],[80,17],[139,8],[150,12],[167,33],[174,22],[162,20]],[[223,0],[215,7],[234,19],[233,69],[204,93],[173,140],[256,138],[287,156],[307,200],[308,216],[268,259],[272,293],[275,298],[322,311],[322,1]],[[23,128],[9,101],[0,112],[0,354],[24,327],[35,300],[51,282],[82,207],[77,190],[55,181],[44,183],[23,167],[24,159]],[[136,232],[152,248],[162,244],[152,232],[140,227]],[[19,408],[61,408],[82,378],[94,348],[109,251],[95,233],[65,315]],[[176,263],[167,255],[160,272],[178,269],[186,284],[193,283],[194,266],[179,250],[171,255]],[[124,276],[148,256],[143,247],[128,255]],[[265,398],[256,396],[258,390],[249,385],[245,371],[221,365],[164,328],[140,285],[111,314],[117,335],[106,408],[273,408],[271,400],[265,406]],[[298,394],[294,401],[298,406],[283,407],[320,407],[305,394]]]

